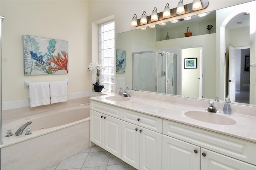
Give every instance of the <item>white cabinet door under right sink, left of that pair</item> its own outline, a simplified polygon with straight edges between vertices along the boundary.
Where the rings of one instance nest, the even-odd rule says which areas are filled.
[[[163,170],[200,170],[199,146],[166,135],[162,140]]]

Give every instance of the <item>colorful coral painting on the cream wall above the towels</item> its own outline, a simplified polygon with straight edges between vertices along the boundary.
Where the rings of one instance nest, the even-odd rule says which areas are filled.
[[[68,41],[24,35],[24,75],[67,74]]]

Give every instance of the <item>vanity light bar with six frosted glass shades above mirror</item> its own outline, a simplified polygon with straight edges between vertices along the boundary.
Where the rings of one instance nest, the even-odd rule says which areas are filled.
[[[207,6],[209,5],[209,0],[193,0],[192,3],[185,4],[185,5],[183,4],[183,0],[179,0],[177,8],[173,8],[173,9],[170,9],[169,4],[166,3],[166,6],[163,12],[157,13],[157,9],[156,7],[154,7],[154,10],[152,11],[151,16],[147,16],[146,11],[143,11],[141,18],[137,19],[136,14],[134,14],[134,16],[132,17],[131,26],[136,27],[136,26],[142,26],[146,24],[155,25],[152,23],[162,21],[162,20],[166,20],[162,22],[170,21],[172,19],[168,19],[168,18],[176,17],[182,14],[189,14],[190,12],[193,12],[194,11],[192,10],[193,4],[194,6],[196,6],[194,7],[195,10],[202,10],[207,8]],[[202,6],[201,8],[200,8],[200,4]],[[189,16],[189,15],[186,15],[186,16]],[[137,19],[137,22],[135,22],[136,19]],[[176,23],[176,20],[172,20],[171,22]]]

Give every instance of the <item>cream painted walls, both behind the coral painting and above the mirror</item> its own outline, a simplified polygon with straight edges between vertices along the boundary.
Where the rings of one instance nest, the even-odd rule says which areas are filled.
[[[248,2],[250,0],[210,0],[207,12]],[[184,4],[192,0],[184,1]],[[166,1],[128,0],[1,0],[2,24],[2,102],[27,99],[24,81],[52,81],[68,78],[68,93],[91,91],[87,65],[97,58],[97,42],[93,41],[92,23],[114,15],[116,33],[133,30],[130,21],[134,14],[140,18],[145,10],[163,11]],[[177,0],[168,1],[176,8]],[[193,12],[198,14],[199,12]],[[186,15],[185,15],[186,16]],[[69,45],[69,73],[67,75],[23,75],[24,34],[67,40]],[[95,33],[94,33],[95,34]],[[92,39],[94,38],[94,39]],[[93,42],[93,43],[92,43]],[[93,49],[92,49],[93,48]]]

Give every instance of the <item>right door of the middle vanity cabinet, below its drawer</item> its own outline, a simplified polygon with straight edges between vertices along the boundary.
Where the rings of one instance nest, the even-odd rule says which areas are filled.
[[[162,134],[140,127],[140,170],[162,169]]]

